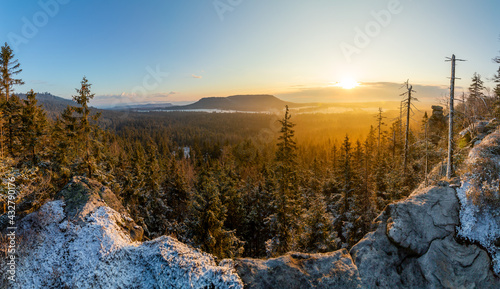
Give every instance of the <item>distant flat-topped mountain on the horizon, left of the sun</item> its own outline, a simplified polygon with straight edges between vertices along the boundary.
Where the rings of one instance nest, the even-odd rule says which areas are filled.
[[[238,111],[269,111],[282,110],[285,105],[296,107],[297,104],[283,101],[273,95],[232,95],[228,97],[205,97],[199,101],[183,105],[173,106],[169,110],[191,110],[191,109],[221,109]]]

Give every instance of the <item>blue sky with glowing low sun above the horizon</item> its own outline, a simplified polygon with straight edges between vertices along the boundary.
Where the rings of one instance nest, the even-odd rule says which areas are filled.
[[[0,0],[0,41],[25,85],[71,98],[83,76],[92,104],[192,102],[273,94],[297,102],[458,93],[486,86],[500,55],[500,1],[484,0]],[[339,83],[360,86],[344,89]]]

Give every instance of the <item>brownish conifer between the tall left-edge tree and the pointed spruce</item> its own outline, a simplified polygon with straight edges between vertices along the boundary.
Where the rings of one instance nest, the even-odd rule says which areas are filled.
[[[24,100],[21,113],[21,144],[25,155],[30,155],[32,164],[39,159],[38,148],[43,146],[47,119],[45,111],[37,105],[36,93],[30,90]]]

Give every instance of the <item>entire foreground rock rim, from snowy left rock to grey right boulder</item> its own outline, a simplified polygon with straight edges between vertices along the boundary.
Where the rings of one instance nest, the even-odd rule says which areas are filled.
[[[387,206],[350,252],[219,265],[170,237],[140,242],[141,229],[97,182],[74,178],[58,196],[18,225],[12,288],[500,288],[488,253],[457,239],[460,205],[446,182]]]

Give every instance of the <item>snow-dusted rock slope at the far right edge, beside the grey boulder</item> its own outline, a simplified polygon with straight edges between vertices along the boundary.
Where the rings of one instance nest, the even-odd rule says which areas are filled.
[[[499,275],[500,208],[484,197],[493,194],[498,198],[499,194],[499,131],[488,135],[470,151],[467,167],[469,170],[462,176],[462,186],[457,189],[461,207],[457,233],[484,247],[492,256],[494,272]]]

